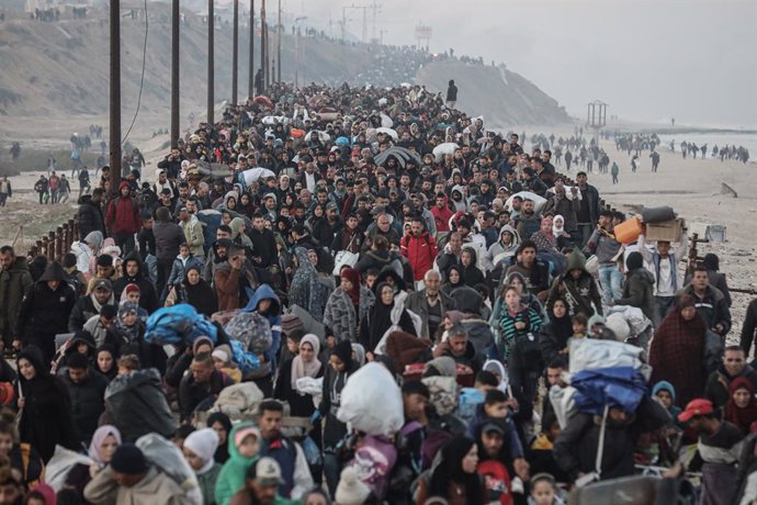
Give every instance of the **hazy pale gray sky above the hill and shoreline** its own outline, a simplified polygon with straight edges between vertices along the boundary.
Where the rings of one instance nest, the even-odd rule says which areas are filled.
[[[342,5],[371,2],[283,0],[283,8],[304,10],[307,24],[327,31],[330,14],[336,36]],[[376,3],[384,42],[414,44],[422,20],[433,30],[431,52],[454,47],[487,63],[504,61],[573,115],[583,117],[586,103],[599,99],[626,120],[757,127],[755,0]],[[274,4],[268,0],[269,9]],[[348,11],[348,18],[360,36],[362,11]]]

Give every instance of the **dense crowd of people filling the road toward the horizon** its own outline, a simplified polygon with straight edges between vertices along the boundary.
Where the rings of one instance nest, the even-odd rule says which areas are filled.
[[[0,502],[553,505],[642,465],[749,503],[757,302],[725,346],[718,258],[621,244],[552,165],[580,135],[274,85],[98,175],[60,262],[0,248]]]

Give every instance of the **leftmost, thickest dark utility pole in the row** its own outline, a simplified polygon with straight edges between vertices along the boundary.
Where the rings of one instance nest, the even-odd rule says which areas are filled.
[[[111,193],[121,182],[121,0],[111,0]]]

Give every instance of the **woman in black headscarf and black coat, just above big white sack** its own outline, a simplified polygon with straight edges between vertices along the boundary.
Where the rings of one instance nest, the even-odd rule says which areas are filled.
[[[402,304],[395,303],[394,289],[388,283],[382,282],[376,287],[375,303],[360,323],[360,344],[368,352],[373,352],[392,326],[399,326],[398,329],[417,336],[407,310]]]

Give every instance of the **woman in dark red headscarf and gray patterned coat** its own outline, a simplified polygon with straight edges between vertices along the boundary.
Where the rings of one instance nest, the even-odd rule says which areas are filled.
[[[337,340],[354,340],[360,322],[375,303],[375,296],[360,283],[358,270],[343,268],[340,279],[340,285],[326,303],[324,324],[331,329]]]

